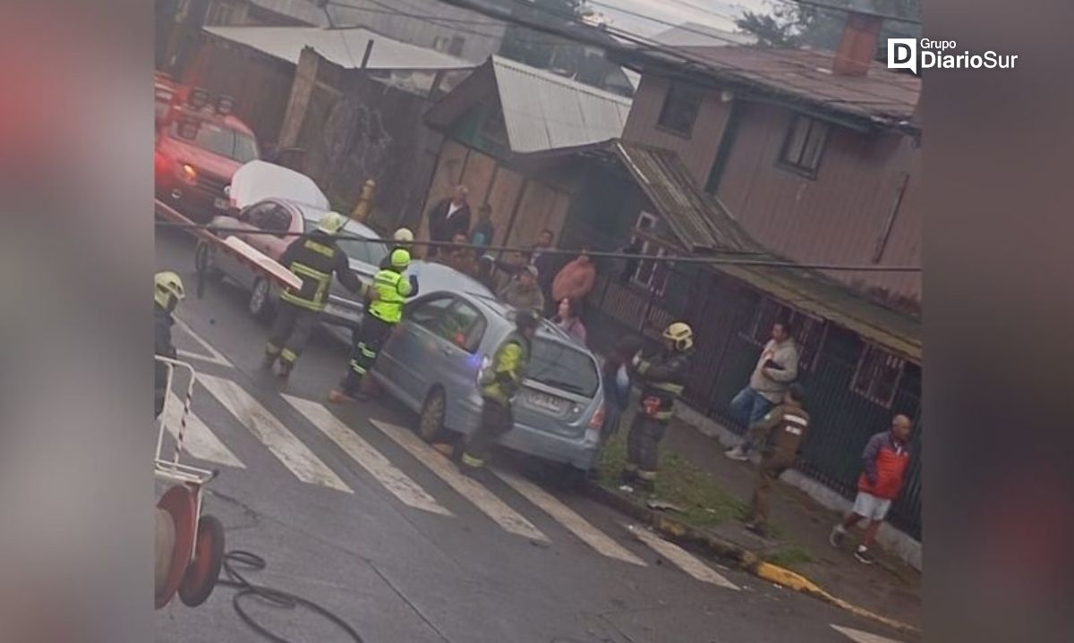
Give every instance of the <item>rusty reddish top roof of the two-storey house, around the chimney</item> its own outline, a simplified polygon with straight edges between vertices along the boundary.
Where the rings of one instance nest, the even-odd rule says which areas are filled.
[[[724,81],[754,86],[851,116],[887,125],[913,121],[921,82],[873,61],[865,76],[831,71],[834,54],[818,49],[753,46],[680,47],[707,68],[694,68]]]

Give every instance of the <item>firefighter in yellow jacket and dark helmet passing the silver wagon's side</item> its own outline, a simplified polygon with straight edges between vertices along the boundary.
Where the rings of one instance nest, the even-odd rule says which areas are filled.
[[[514,312],[516,332],[499,345],[492,362],[481,369],[481,424],[463,447],[460,470],[474,474],[484,467],[493,443],[514,426],[511,399],[522,386],[531,342],[540,325],[540,313],[525,309]]]

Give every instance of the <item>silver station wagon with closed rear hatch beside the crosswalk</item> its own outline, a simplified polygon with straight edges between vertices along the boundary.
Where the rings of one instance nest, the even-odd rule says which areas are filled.
[[[407,304],[372,370],[390,395],[419,413],[418,433],[429,441],[478,426],[478,370],[514,328],[510,307],[455,275],[451,290],[434,292],[419,276],[422,294]],[[585,347],[547,321],[534,338],[513,408],[514,428],[502,445],[577,472],[593,466],[605,412],[600,369]]]

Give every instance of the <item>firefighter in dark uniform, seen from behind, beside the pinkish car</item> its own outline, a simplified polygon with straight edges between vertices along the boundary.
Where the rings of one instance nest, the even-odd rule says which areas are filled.
[[[353,293],[362,293],[365,289],[358,276],[350,272],[347,255],[335,240],[346,223],[346,217],[339,213],[328,213],[317,222],[314,232],[291,242],[279,259],[280,264],[302,279],[297,292],[280,292],[276,321],[265,344],[262,367],[271,369],[279,360],[278,375],[281,378],[291,375],[294,363],[309,340],[314,324],[324,309],[332,275]]]

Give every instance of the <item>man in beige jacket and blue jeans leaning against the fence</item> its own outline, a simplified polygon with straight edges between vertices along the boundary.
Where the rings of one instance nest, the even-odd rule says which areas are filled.
[[[790,382],[798,378],[798,345],[783,322],[772,324],[772,338],[760,352],[750,383],[731,399],[731,412],[743,426],[751,426],[783,399]],[[727,457],[750,459],[753,438],[746,434],[739,447],[727,451]]]

